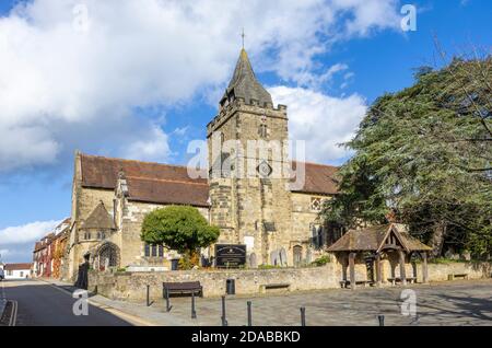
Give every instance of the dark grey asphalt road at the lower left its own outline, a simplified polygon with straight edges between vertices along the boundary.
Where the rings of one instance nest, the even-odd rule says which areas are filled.
[[[0,295],[16,302],[16,326],[131,326],[129,322],[91,304],[87,304],[87,315],[73,314],[78,299],[42,281],[2,281],[0,292]]]

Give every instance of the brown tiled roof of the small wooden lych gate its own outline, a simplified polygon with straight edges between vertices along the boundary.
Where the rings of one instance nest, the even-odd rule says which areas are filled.
[[[378,252],[393,233],[407,252],[423,252],[432,248],[412,237],[403,224],[391,223],[363,230],[350,230],[328,248],[328,252]]]

